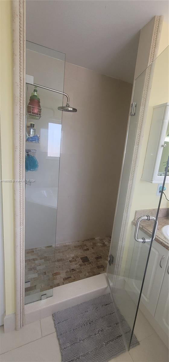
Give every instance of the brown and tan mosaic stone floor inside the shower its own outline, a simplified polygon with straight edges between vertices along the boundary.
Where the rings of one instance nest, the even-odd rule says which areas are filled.
[[[105,273],[110,241],[107,236],[26,249],[25,296]]]

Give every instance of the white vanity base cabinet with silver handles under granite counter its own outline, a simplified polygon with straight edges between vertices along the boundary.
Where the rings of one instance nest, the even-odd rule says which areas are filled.
[[[133,225],[131,233],[134,243],[132,245],[133,253],[130,270],[128,276],[125,277],[125,289],[137,305],[150,243],[142,244],[134,241],[134,231],[135,226]],[[138,237],[147,239],[149,236],[143,230],[139,230]],[[139,308],[166,345],[168,345],[169,335],[168,273],[169,251],[154,240]]]

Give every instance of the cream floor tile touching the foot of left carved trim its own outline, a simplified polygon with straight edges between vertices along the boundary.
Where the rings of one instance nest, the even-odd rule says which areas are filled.
[[[0,327],[0,353],[22,346],[41,338],[40,321],[25,325],[19,331],[4,333],[4,328]]]

